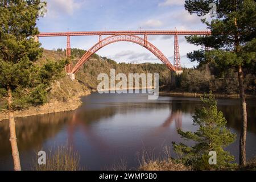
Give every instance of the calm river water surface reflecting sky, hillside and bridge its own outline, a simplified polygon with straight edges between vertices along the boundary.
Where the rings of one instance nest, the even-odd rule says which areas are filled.
[[[121,160],[128,168],[139,165],[142,151],[161,156],[171,142],[181,142],[177,128],[195,131],[192,115],[200,107],[199,98],[159,97],[146,94],[98,94],[82,97],[76,111],[16,119],[16,132],[23,169],[31,169],[39,150],[54,150],[71,144],[80,155],[80,166],[86,169],[108,169]],[[226,150],[238,162],[238,138],[241,129],[239,100],[218,100],[237,140]],[[247,101],[247,158],[256,156],[256,104]],[[13,169],[9,142],[9,123],[0,122],[0,170]],[[187,142],[191,144],[191,142]],[[171,150],[172,153],[172,150]],[[172,153],[173,156],[175,154]]]

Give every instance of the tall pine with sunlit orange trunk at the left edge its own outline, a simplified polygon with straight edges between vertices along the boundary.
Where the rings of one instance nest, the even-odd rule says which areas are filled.
[[[15,170],[21,167],[14,111],[46,102],[47,88],[66,63],[66,60],[36,63],[43,52],[33,38],[39,34],[36,27],[39,3],[39,0],[0,0],[0,98],[6,100],[5,111],[9,113]]]

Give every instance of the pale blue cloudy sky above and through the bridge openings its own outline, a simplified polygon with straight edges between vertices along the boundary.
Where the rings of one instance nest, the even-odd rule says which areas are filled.
[[[102,30],[206,30],[200,17],[189,15],[183,0],[47,0],[47,14],[38,21],[40,32]],[[89,49],[98,36],[71,37],[71,47]],[[174,36],[150,35],[154,44],[173,63]],[[66,38],[40,38],[46,49],[65,48]],[[179,36],[181,64],[192,67],[186,54],[198,49]],[[161,63],[147,49],[129,42],[106,46],[98,55],[125,63]]]

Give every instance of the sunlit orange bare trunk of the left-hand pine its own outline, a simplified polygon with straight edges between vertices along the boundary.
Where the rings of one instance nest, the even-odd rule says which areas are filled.
[[[14,111],[11,108],[12,104],[12,96],[11,89],[8,88],[8,106],[9,106],[9,127],[10,127],[10,142],[11,142],[11,151],[13,153],[13,162],[14,162],[14,170],[20,171],[20,161],[19,161],[19,151],[16,139],[16,131],[15,131],[15,120],[14,120]]]

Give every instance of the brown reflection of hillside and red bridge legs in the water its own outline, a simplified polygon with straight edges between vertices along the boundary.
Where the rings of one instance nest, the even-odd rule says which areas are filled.
[[[175,127],[182,127],[182,115],[192,115],[195,107],[201,107],[199,101],[174,100],[168,102],[144,102],[144,103],[118,103],[113,106],[101,107],[98,109],[84,109],[73,112],[63,112],[55,114],[37,115],[27,118],[16,119],[16,133],[18,138],[19,150],[29,150],[31,148],[40,147],[48,138],[54,137],[59,133],[61,128],[68,124],[69,139],[73,137],[73,130],[79,127],[91,143],[97,143],[97,146],[105,146],[101,138],[90,129],[91,124],[98,121],[105,121],[106,118],[112,118],[115,114],[126,115],[128,113],[143,113],[152,110],[161,110],[169,107],[170,115],[166,116],[166,120],[155,131],[167,129],[175,122]],[[241,128],[241,113],[238,105],[218,105],[225,118],[228,126],[236,130]],[[255,107],[248,106],[248,131],[256,133],[255,123]],[[145,117],[147,115],[145,114]],[[0,155],[10,154],[9,142],[9,122],[0,122]],[[99,146],[99,147],[100,147]],[[106,147],[106,146],[105,146]]]

